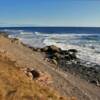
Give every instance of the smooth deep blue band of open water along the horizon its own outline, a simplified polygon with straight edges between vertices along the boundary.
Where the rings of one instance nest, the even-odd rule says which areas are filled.
[[[2,29],[11,30],[24,30],[29,32],[42,32],[42,33],[87,33],[87,34],[100,34],[100,27],[3,27]]]

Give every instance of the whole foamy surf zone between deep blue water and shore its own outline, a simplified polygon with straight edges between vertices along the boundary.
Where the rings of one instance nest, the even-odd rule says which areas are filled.
[[[100,36],[100,34],[46,34],[19,31],[17,35],[9,35],[9,37],[17,37],[25,44],[33,47],[55,45],[63,50],[77,49],[77,57],[100,65],[100,53],[97,53],[100,52],[100,42],[88,39],[82,40],[82,36]]]

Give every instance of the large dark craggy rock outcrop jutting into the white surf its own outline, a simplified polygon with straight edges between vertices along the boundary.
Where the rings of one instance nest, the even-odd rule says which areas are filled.
[[[41,49],[42,52],[46,54],[46,58],[48,58],[52,63],[55,65],[63,65],[62,63],[65,63],[67,61],[76,60],[76,49],[69,49],[69,50],[61,50],[60,48],[51,45],[46,46]]]

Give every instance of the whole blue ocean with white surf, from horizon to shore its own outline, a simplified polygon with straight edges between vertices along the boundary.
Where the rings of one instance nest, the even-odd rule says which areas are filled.
[[[99,27],[3,27],[0,31],[33,47],[55,45],[63,50],[77,49],[79,59],[100,65]]]

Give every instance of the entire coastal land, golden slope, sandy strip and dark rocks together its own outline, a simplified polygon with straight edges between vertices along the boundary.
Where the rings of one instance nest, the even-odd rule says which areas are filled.
[[[77,52],[30,47],[2,33],[0,100],[100,100],[99,66],[84,66]]]

